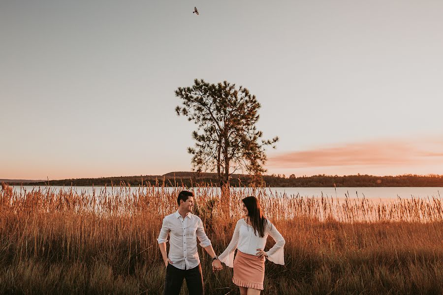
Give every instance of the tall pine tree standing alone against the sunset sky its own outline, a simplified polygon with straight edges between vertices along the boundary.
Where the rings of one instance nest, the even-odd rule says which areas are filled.
[[[182,100],[177,115],[198,125],[192,132],[195,147],[188,148],[193,171],[217,171],[221,186],[228,186],[229,176],[238,170],[254,176],[266,172],[265,147],[275,148],[279,138],[261,140],[263,133],[255,127],[261,106],[248,89],[195,79],[175,95]]]

